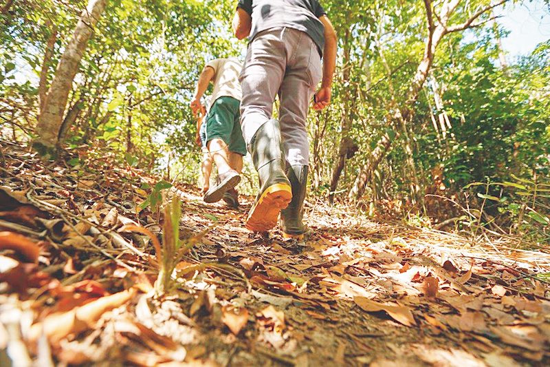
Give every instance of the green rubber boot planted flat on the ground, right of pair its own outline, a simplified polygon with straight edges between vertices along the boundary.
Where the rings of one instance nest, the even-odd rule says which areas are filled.
[[[283,227],[283,237],[304,238],[305,226],[302,222],[304,218],[304,200],[307,191],[307,173],[309,167],[304,165],[295,165],[287,167],[287,177],[292,186],[292,201],[286,209],[281,211],[281,227]]]

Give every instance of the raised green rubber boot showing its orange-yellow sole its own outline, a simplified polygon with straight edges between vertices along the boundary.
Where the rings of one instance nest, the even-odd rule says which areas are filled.
[[[271,119],[258,129],[249,150],[260,178],[260,191],[248,212],[245,226],[251,231],[268,231],[277,225],[281,209],[285,209],[292,199],[277,120]]]

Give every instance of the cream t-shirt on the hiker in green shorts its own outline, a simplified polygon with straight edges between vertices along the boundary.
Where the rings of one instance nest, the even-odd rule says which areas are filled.
[[[214,69],[214,90],[210,96],[210,105],[223,96],[230,96],[241,101],[243,92],[241,92],[239,74],[241,74],[243,64],[239,62],[239,59],[236,57],[215,59],[206,66]]]

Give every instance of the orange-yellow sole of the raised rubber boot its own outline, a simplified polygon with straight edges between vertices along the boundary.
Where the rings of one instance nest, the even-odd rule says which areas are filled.
[[[287,184],[275,184],[267,187],[256,205],[250,209],[245,227],[250,231],[269,231],[277,225],[281,210],[288,207],[292,200],[292,188]]]

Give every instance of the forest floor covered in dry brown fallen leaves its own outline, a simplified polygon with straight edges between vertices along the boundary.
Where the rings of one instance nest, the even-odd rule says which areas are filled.
[[[305,241],[283,240],[243,227],[252,198],[228,209],[176,185],[164,196],[181,199],[195,245],[158,295],[154,243],[131,227],[162,231],[162,216],[137,212],[155,178],[2,145],[2,366],[550,364],[545,249],[321,201],[307,205]]]

